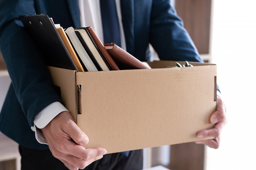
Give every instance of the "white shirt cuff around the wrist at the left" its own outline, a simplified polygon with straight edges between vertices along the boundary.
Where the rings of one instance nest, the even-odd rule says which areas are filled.
[[[50,123],[55,116],[63,111],[68,111],[60,102],[54,102],[40,111],[34,118],[34,126],[31,127],[35,131],[35,138],[40,144],[48,144],[41,128]]]

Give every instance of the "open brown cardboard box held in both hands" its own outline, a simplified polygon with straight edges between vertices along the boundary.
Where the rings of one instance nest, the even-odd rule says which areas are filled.
[[[214,126],[209,118],[216,110],[217,67],[192,64],[197,67],[166,68],[175,61],[162,60],[149,63],[158,69],[49,71],[66,108],[89,137],[84,147],[114,153],[202,140],[197,132]]]

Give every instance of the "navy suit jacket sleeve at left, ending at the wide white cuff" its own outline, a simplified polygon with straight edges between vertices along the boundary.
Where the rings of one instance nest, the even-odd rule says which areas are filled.
[[[31,127],[35,115],[46,106],[62,103],[53,90],[42,53],[19,20],[19,15],[35,14],[34,7],[33,0],[0,0],[0,50]]]

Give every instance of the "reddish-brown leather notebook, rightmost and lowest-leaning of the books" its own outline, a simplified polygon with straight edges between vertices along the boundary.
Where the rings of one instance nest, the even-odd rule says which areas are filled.
[[[130,69],[150,69],[140,60],[133,57],[131,54],[118,47],[116,44],[104,44],[111,57],[117,63],[120,70]]]

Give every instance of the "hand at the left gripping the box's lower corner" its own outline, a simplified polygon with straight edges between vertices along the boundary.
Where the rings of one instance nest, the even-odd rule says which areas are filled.
[[[85,149],[81,146],[88,144],[89,139],[67,111],[58,114],[41,130],[53,156],[62,161],[70,170],[84,169],[107,153],[104,148]]]

